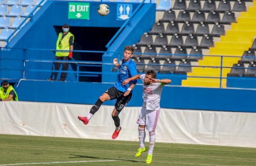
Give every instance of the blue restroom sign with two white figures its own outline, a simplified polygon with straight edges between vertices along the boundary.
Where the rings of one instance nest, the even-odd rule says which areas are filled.
[[[132,4],[117,4],[117,20],[125,20],[131,17],[133,12]]]

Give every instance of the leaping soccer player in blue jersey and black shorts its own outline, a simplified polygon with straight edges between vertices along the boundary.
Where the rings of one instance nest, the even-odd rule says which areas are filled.
[[[117,138],[119,132],[121,131],[120,118],[118,117],[121,110],[132,98],[132,89],[134,88],[137,80],[133,80],[126,85],[122,85],[123,81],[137,75],[137,68],[134,61],[131,59],[133,56],[133,47],[128,45],[125,46],[123,51],[122,64],[118,64],[117,58],[113,60],[113,64],[119,68],[119,74],[117,75],[117,81],[115,85],[106,91],[99,97],[97,102],[91,108],[87,116],[78,116],[78,119],[87,125],[101,106],[101,104],[108,100],[116,100],[115,108],[112,111],[112,118],[114,120],[116,129],[112,135],[112,139]]]

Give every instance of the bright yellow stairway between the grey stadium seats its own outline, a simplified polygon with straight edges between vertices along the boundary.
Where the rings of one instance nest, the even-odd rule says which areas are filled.
[[[210,48],[210,56],[204,57],[199,61],[199,66],[212,67],[193,67],[191,73],[187,73],[187,79],[182,80],[182,86],[197,86],[197,87],[220,87],[220,79],[218,78],[198,78],[198,77],[220,77],[221,69],[216,66],[221,66],[222,59],[222,77],[226,78],[234,63],[238,63],[244,51],[248,51],[251,47],[254,37],[256,37],[256,1],[253,1],[253,6],[248,7],[247,12],[241,12],[237,23],[231,24],[231,30],[226,32],[225,36],[221,36],[221,40],[215,43],[214,48]],[[213,67],[215,66],[215,67]],[[189,76],[194,76],[194,78]],[[221,87],[226,87],[226,79],[221,80]]]

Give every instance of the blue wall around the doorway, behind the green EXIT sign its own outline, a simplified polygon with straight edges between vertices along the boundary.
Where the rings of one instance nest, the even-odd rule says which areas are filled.
[[[75,2],[75,1],[72,1]],[[81,3],[81,2],[79,2]],[[124,20],[117,20],[117,3],[108,4],[111,12],[107,16],[100,16],[97,13],[97,7],[101,2],[90,3],[90,19],[68,19],[68,1],[48,1],[39,11],[28,21],[19,33],[10,41],[10,48],[2,52],[1,61],[1,78],[22,79],[24,67],[24,59],[48,59],[54,60],[54,52],[48,49],[55,50],[57,32],[54,27],[62,27],[68,23],[71,27],[121,27]],[[133,4],[133,10],[139,4]],[[155,5],[155,4],[154,4]],[[152,4],[145,6],[153,6]],[[155,14],[155,10],[153,12]],[[146,20],[145,20],[146,21]],[[90,33],[90,32],[88,32]],[[137,36],[139,38],[139,36]],[[138,39],[137,39],[138,40]],[[33,50],[45,49],[45,50]],[[4,58],[4,59],[3,59]],[[12,60],[7,59],[12,58]],[[13,60],[15,59],[15,60]],[[46,79],[49,78],[49,72],[29,72],[29,69],[45,69],[49,70],[52,63],[26,62],[26,79]],[[14,68],[14,69],[13,69]],[[69,74],[71,75],[71,74]],[[71,77],[74,78],[74,77]]]

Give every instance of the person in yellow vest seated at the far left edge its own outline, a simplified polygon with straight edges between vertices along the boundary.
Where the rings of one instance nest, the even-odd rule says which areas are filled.
[[[7,80],[4,80],[0,87],[0,101],[18,101],[16,91]]]

